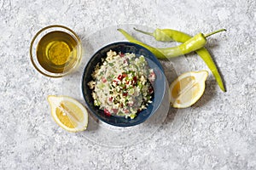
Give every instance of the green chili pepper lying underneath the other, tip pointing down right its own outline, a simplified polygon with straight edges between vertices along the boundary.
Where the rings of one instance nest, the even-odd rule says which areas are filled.
[[[137,30],[136,28],[134,28],[134,30],[140,31],[140,32],[142,32],[144,34],[148,34],[150,36],[153,36],[155,38],[155,40],[162,41],[162,42],[169,42],[169,41],[186,42],[191,38],[188,34],[183,33],[182,31],[175,31],[172,29],[157,28],[154,30],[153,33]],[[225,31],[225,30],[222,29],[219,31]],[[212,34],[209,34],[207,36],[210,36],[210,35],[212,35]],[[200,49],[196,50],[195,52],[201,57],[201,59],[204,60],[204,62],[207,64],[210,71],[212,71],[213,76],[215,77],[216,81],[218,82],[219,88],[222,91],[226,92],[222,78],[219,75],[218,68],[215,65],[214,61],[212,60],[211,54],[209,54],[207,48],[200,48]]]

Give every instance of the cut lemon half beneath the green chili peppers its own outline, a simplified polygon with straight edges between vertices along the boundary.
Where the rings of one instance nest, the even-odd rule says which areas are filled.
[[[186,108],[201,98],[206,88],[207,71],[185,72],[170,85],[171,105]]]

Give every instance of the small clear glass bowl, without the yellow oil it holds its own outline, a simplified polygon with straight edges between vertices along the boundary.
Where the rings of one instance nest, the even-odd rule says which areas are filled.
[[[37,55],[37,50],[38,50],[38,43],[40,40],[47,34],[53,31],[61,31],[62,33],[67,33],[69,37],[73,38],[73,41],[76,42],[76,56],[75,56],[75,61],[73,61],[73,65],[71,67],[65,67],[63,71],[61,72],[51,72],[48,71],[42,66],[39,61],[38,61],[38,55]],[[35,35],[35,37],[32,38],[31,46],[30,46],[30,56],[31,56],[31,61],[32,65],[35,67],[37,71],[39,71],[41,74],[43,74],[46,77],[63,77],[66,76],[68,73],[73,71],[78,65],[82,57],[82,45],[79,37],[77,34],[72,31],[70,28],[67,28],[66,26],[59,26],[59,25],[53,25],[53,26],[46,26],[38,33]]]

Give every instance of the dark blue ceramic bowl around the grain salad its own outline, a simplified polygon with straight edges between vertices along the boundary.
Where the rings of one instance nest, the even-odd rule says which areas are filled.
[[[93,98],[91,96],[92,90],[88,87],[87,83],[92,80],[91,74],[95,69],[97,63],[102,63],[102,58],[107,57],[107,52],[112,49],[117,53],[133,53],[137,56],[143,55],[148,61],[150,68],[154,69],[156,75],[154,87],[154,96],[152,103],[148,105],[146,110],[140,111],[137,113],[137,116],[134,119],[125,118],[123,116],[106,116],[104,111],[100,110],[98,106],[93,105]],[[148,117],[152,116],[154,112],[159,108],[162,99],[164,97],[166,90],[166,77],[163,71],[163,67],[160,64],[159,60],[156,59],[154,54],[148,51],[147,48],[143,48],[136,43],[131,42],[114,42],[101,49],[99,49],[96,54],[94,54],[87,65],[84,68],[84,74],[82,77],[82,93],[84,96],[85,104],[90,110],[90,112],[100,119],[102,122],[106,122],[110,125],[117,127],[131,127],[142,122],[145,122]]]

